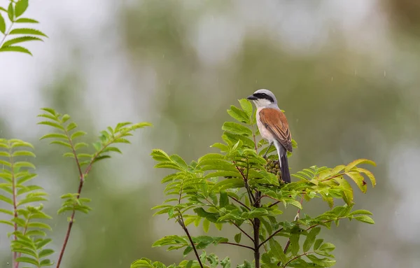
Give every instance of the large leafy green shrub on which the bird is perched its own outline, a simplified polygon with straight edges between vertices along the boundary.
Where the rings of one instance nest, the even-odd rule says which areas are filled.
[[[293,174],[295,181],[284,184],[276,166],[276,155],[267,160],[261,155],[264,141],[257,143],[255,112],[246,99],[239,100],[241,108],[231,106],[229,115],[236,122],[225,122],[223,143],[214,143],[220,153],[209,153],[189,164],[179,155],[168,155],[162,150],[152,151],[158,162],[156,168],[172,169],[173,173],[162,179],[168,199],[155,206],[155,215],[165,214],[179,223],[186,236],[168,236],[153,246],[168,246],[168,251],[183,250],[184,257],[195,254],[195,260],[184,260],[169,267],[216,267],[218,258],[200,257],[198,251],[209,245],[228,244],[248,248],[254,261],[245,261],[238,267],[331,267],[335,265],[332,251],[335,246],[318,238],[321,227],[330,229],[343,219],[373,224],[369,211],[353,210],[351,181],[366,192],[368,178],[376,184],[373,174],[359,167],[372,164],[370,160],[356,160],[335,168],[310,167]],[[297,143],[293,141],[293,147]],[[258,150],[260,150],[258,152]],[[329,210],[318,216],[304,214],[300,217],[303,201],[314,198],[325,201]],[[344,201],[335,205],[336,199]],[[297,209],[294,220],[281,217],[286,209]],[[202,224],[204,232],[211,225],[221,230],[232,225],[237,234],[228,237],[191,237],[188,226]],[[248,233],[245,226],[251,227]],[[282,246],[283,245],[283,246]],[[225,245],[223,245],[225,246]],[[260,255],[260,251],[262,251]],[[204,251],[202,254],[206,254]],[[204,263],[209,260],[209,264]],[[226,260],[226,259],[225,259]],[[221,262],[230,267],[230,262]],[[132,263],[137,267],[166,267],[148,259]]]

